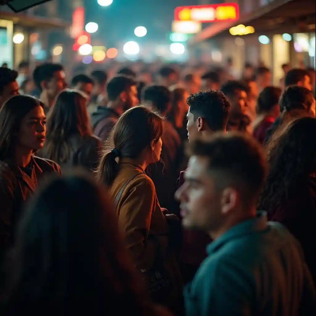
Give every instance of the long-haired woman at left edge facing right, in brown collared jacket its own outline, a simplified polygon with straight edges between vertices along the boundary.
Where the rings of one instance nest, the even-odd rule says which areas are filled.
[[[23,203],[37,190],[40,179],[60,173],[53,161],[34,156],[43,147],[45,133],[40,100],[17,95],[4,103],[0,110],[0,263],[14,244]]]

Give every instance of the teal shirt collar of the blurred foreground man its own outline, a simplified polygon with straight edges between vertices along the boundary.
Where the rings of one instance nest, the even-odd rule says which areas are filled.
[[[227,243],[229,240],[235,239],[242,235],[251,234],[254,232],[263,231],[268,227],[267,213],[265,211],[258,211],[257,216],[252,219],[243,221],[232,228],[230,228],[222,236],[210,243],[206,250],[208,254],[215,252],[216,249]]]

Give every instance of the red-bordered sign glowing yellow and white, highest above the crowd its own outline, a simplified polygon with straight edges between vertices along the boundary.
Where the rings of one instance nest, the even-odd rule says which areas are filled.
[[[201,23],[218,21],[237,21],[239,6],[237,3],[219,3],[177,7],[174,9],[175,21],[197,21]]]

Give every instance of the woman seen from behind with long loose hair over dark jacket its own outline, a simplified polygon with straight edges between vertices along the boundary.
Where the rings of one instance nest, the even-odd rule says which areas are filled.
[[[94,170],[101,150],[101,140],[90,130],[86,98],[75,90],[62,91],[48,113],[46,142],[40,155],[62,167]]]

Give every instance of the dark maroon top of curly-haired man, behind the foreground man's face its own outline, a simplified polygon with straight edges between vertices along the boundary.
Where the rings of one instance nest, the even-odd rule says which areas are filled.
[[[184,173],[180,172],[179,187],[184,183]],[[206,246],[212,240],[210,237],[201,231],[186,230],[183,228],[183,241],[181,249],[182,262],[199,266],[202,261],[207,257]]]

